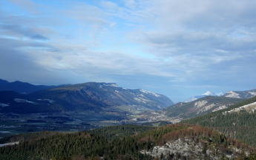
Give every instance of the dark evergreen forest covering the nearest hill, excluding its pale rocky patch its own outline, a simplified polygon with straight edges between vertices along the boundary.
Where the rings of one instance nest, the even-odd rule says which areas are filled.
[[[102,133],[103,131],[105,133]],[[114,134],[120,136],[112,139]],[[28,139],[29,136],[30,139]],[[91,133],[42,132],[10,137],[9,141],[16,138],[16,140],[22,139],[23,142],[0,147],[0,159],[153,159],[151,156],[140,153],[140,150],[151,150],[152,147],[161,146],[166,141],[184,137],[198,139],[198,141],[203,139],[209,144],[224,148],[224,152],[229,152],[225,150],[229,145],[235,145],[242,150],[255,153],[253,147],[194,124],[169,124],[155,129],[125,125],[93,130]],[[5,141],[8,141],[7,138]],[[246,158],[245,154],[241,156]],[[162,159],[176,158],[175,156],[162,157]],[[183,158],[186,159],[186,157]],[[255,155],[251,154],[247,158],[254,159]]]

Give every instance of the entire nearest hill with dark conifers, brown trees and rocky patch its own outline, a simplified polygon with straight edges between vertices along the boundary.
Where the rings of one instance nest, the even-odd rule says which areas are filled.
[[[0,147],[0,159],[246,159],[246,155],[255,158],[249,155],[255,153],[255,148],[193,124],[169,124],[136,135],[133,127],[113,129],[116,134],[125,130],[132,136],[108,141],[92,133],[33,133],[30,140]]]

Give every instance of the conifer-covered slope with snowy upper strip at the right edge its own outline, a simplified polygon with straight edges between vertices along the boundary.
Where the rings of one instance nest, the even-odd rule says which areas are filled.
[[[199,124],[256,147],[256,96],[224,110],[208,113],[182,123]]]

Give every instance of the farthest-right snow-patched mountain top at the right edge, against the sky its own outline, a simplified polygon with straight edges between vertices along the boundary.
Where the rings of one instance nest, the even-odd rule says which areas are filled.
[[[223,95],[223,97],[231,97],[237,99],[250,99],[254,96],[256,96],[256,88],[246,91],[228,91]]]

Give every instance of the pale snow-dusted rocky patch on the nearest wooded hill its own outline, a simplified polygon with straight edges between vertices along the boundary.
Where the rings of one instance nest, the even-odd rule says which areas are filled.
[[[168,141],[163,146],[155,146],[151,150],[142,150],[142,154],[148,154],[155,158],[168,159],[172,156],[179,159],[220,159],[221,156],[225,156],[226,159],[236,159],[237,153],[242,150],[234,146],[229,146],[228,150],[232,153],[226,153],[220,150],[214,144],[207,144],[207,141],[195,141],[195,139],[177,139],[176,141]]]

